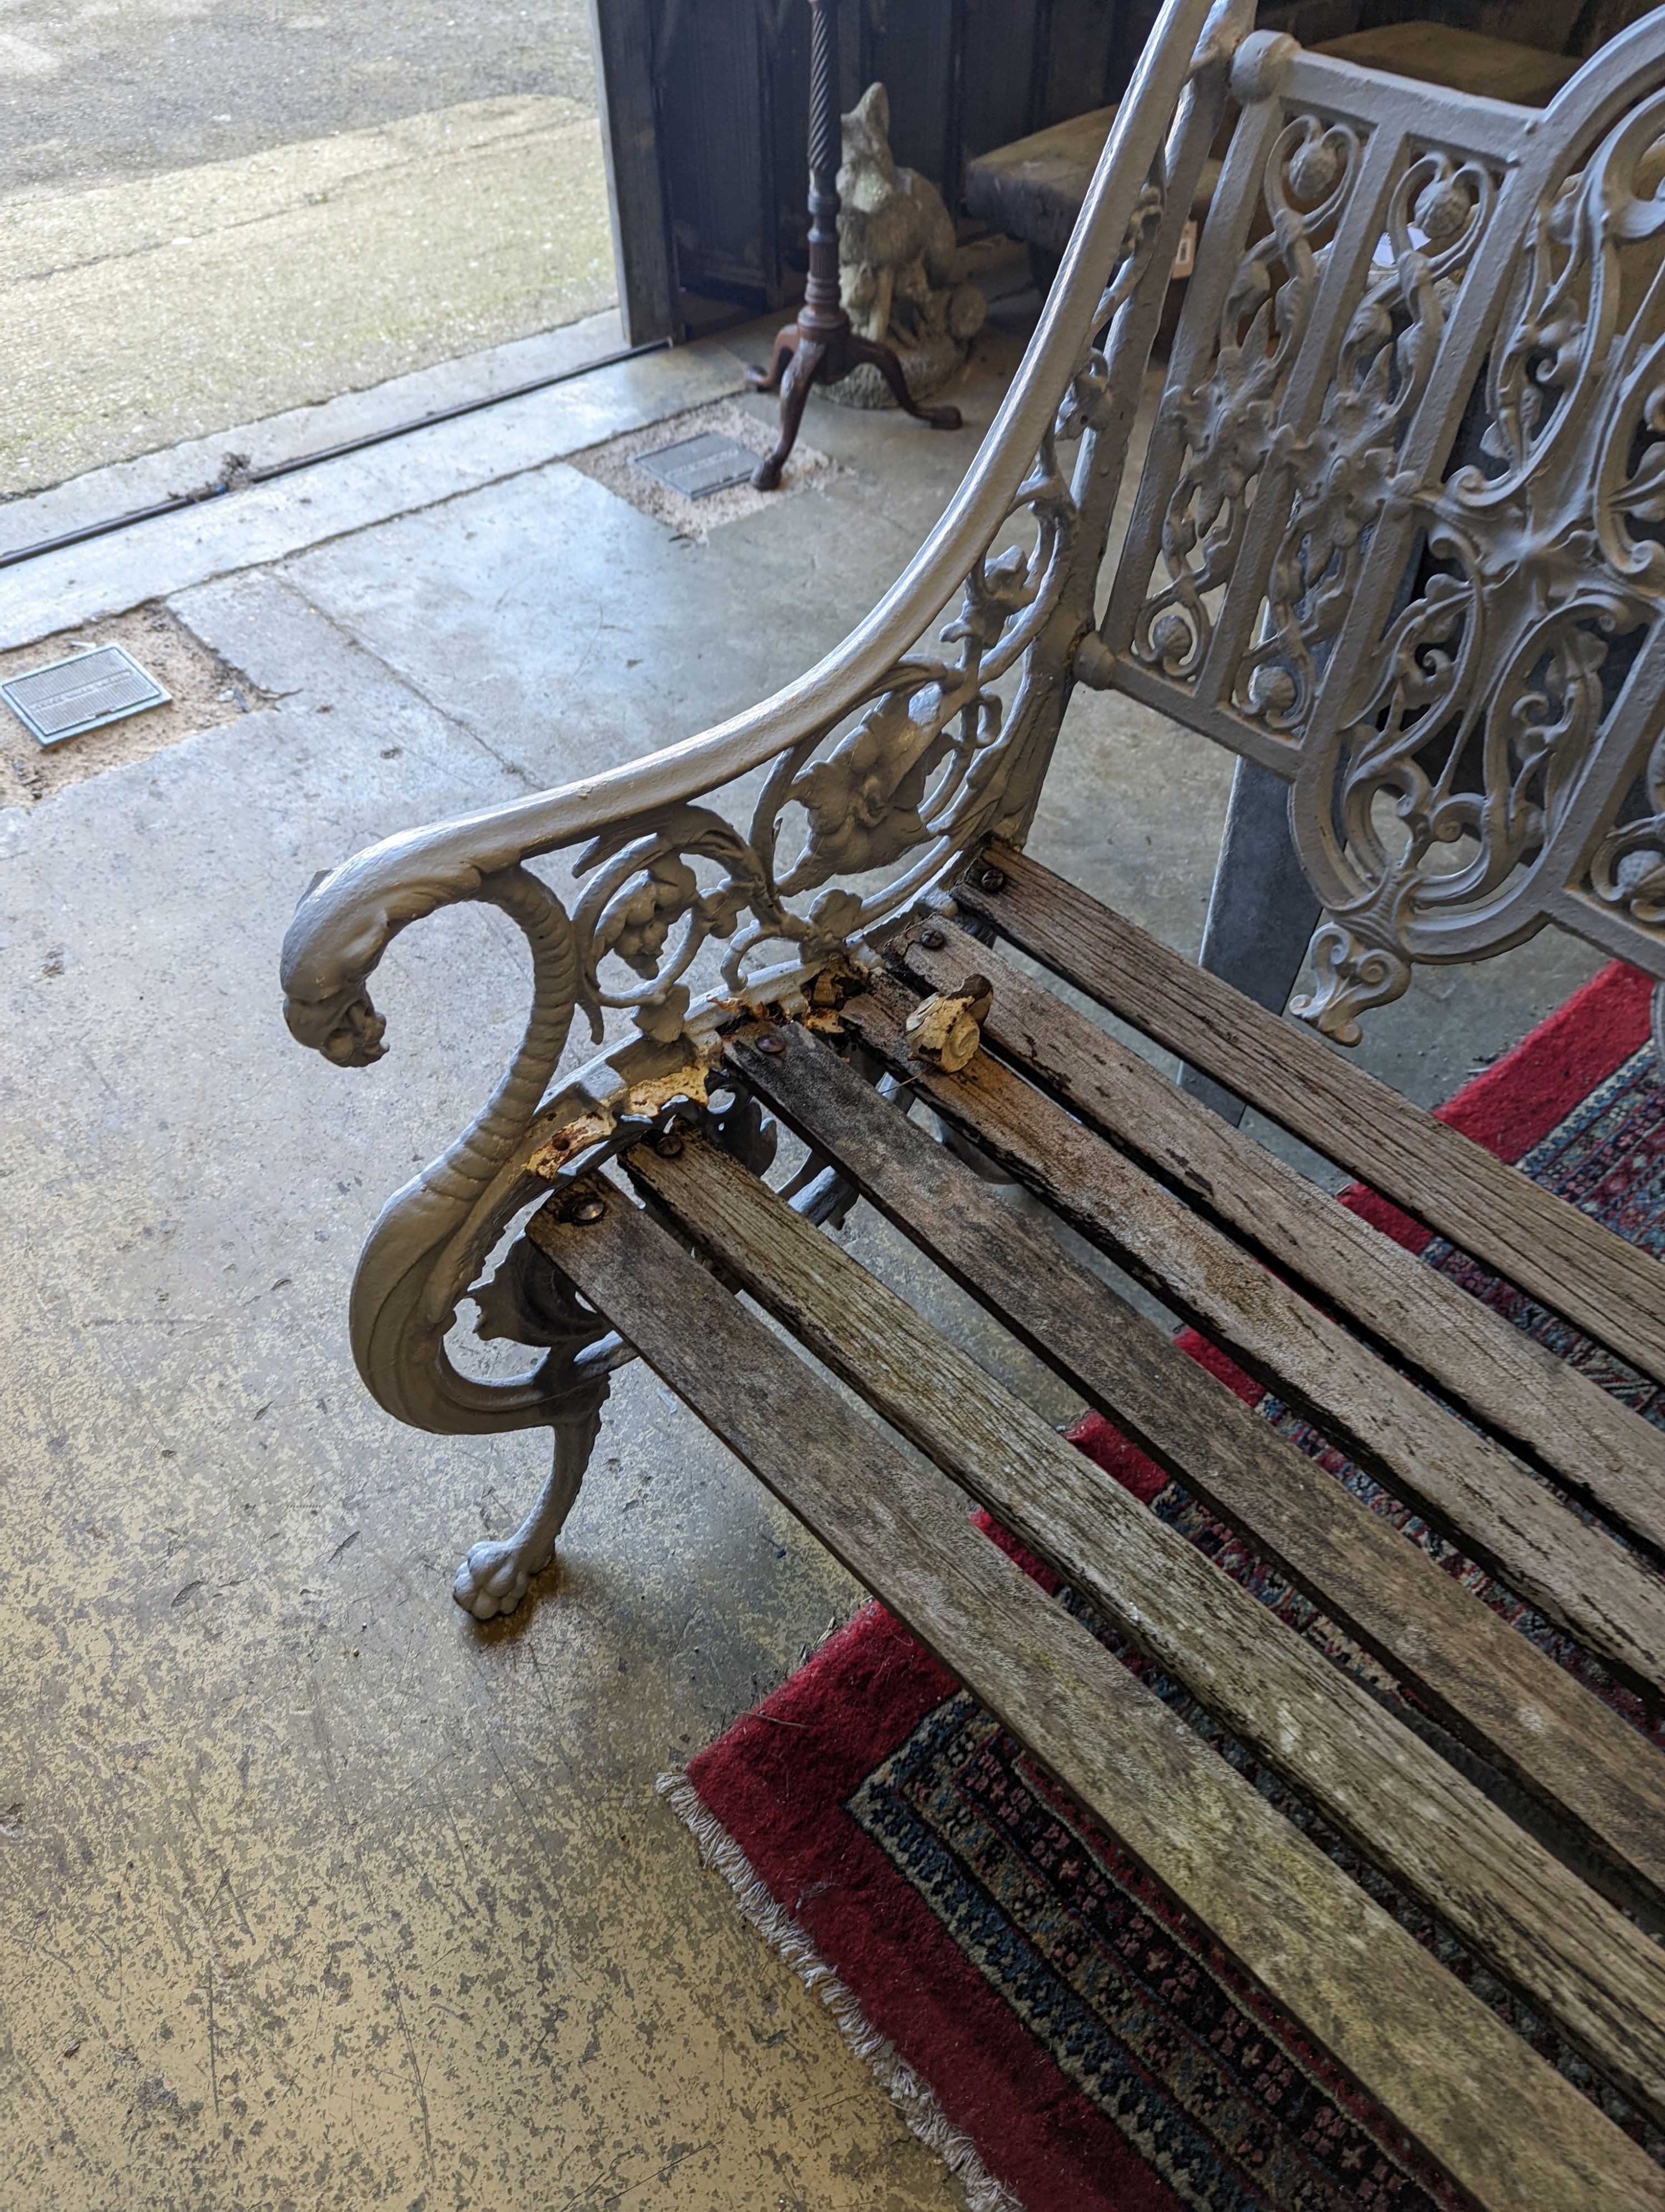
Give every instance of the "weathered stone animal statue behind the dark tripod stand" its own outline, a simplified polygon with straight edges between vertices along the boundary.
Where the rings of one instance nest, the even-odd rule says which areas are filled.
[[[845,115],[838,166],[838,294],[851,325],[896,347],[915,394],[938,392],[962,365],[988,305],[966,283],[966,257],[942,192],[891,157],[891,102],[869,84]],[[827,398],[893,407],[878,369],[862,365]]]

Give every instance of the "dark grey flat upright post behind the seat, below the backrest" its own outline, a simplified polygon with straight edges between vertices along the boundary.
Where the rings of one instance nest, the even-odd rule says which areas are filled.
[[[1318,900],[1289,836],[1289,787],[1269,768],[1238,761],[1201,964],[1256,1004],[1282,1013],[1316,927]],[[1179,1088],[1234,1128],[1243,1119],[1243,1099],[1201,1068],[1181,1068]]]

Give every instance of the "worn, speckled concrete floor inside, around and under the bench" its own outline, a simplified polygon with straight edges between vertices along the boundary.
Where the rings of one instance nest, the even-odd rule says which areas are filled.
[[[274,703],[0,807],[2,2212],[960,2201],[652,1790],[858,1593],[628,1369],[557,1573],[478,1628],[455,1559],[540,1444],[400,1431],[352,1374],[358,1243],[506,1057],[517,940],[402,936],[352,1075],[274,967],[314,869],[814,659],[1013,361],[995,332],[960,438],[814,403],[840,467],[703,544],[559,456],[739,387],[719,345],[13,573],[0,646],[164,595]],[[1194,947],[1227,779],[1081,697],[1037,849]],[[1424,975],[1362,1057],[1435,1099],[1594,964]]]

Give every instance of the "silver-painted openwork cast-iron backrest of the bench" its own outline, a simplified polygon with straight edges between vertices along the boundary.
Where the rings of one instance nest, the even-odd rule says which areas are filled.
[[[1333,998],[1543,920],[1665,975],[1665,9],[1543,111],[1234,95],[1112,681],[1291,783]]]

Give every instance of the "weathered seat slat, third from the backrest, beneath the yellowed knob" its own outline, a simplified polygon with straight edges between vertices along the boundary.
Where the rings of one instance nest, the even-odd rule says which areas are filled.
[[[955,984],[964,973],[960,962]],[[1013,971],[1004,967],[1002,993],[1008,978]],[[902,1031],[913,1004],[900,987],[876,982],[869,998],[851,1004],[849,1020],[862,1042],[913,1075],[918,1095],[938,1113],[966,1128],[1424,1520],[1585,1641],[1632,1688],[1650,1697],[1665,1688],[1665,1582],[1656,1573],[1568,1513],[1499,1444],[1384,1365],[1033,1084],[986,1055],[946,1077],[913,1062]],[[1092,1033],[1088,1022],[1081,1026]],[[1333,1201],[1331,1212],[1340,1212]]]

